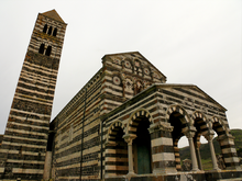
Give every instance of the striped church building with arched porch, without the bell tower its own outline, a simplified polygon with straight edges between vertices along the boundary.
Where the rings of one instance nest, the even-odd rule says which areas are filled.
[[[182,171],[177,144],[183,136],[191,144],[194,171],[199,172],[200,137],[211,140],[215,132],[227,169],[240,169],[226,109],[202,90],[165,83],[166,77],[140,53],[106,55],[102,64],[52,122],[50,178],[89,181],[141,176],[138,147],[143,133],[151,155],[146,174]],[[217,165],[213,168],[218,170]]]

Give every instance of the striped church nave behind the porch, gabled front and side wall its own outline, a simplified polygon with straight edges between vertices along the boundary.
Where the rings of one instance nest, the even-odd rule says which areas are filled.
[[[53,152],[50,178],[57,180],[102,178],[107,159],[106,152],[101,151],[105,142],[101,139],[103,127],[100,116],[120,106],[154,82],[166,80],[164,75],[136,52],[106,55],[102,64],[102,68],[51,124],[54,140],[50,150]],[[155,75],[152,76],[152,73]],[[114,129],[110,132],[116,134]],[[123,145],[123,143],[120,144]],[[125,166],[119,166],[120,171],[117,172],[125,174],[127,171],[123,171],[123,168],[128,168],[128,150],[125,144],[121,145],[120,152],[116,155],[122,155],[121,160]],[[109,154],[112,155],[112,152]]]

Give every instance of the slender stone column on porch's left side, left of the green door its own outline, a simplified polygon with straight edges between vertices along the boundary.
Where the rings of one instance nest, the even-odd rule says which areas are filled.
[[[133,151],[132,151],[132,143],[133,139],[136,138],[136,135],[123,135],[124,140],[128,143],[128,156],[129,156],[129,173],[128,176],[135,176],[133,170]]]

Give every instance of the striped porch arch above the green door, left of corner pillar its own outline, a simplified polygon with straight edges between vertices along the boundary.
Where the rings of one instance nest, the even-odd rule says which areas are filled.
[[[146,109],[139,109],[134,111],[129,118],[129,123],[127,126],[127,134],[135,134],[136,125],[139,124],[138,122],[141,121],[138,118],[140,116],[145,116],[148,120],[150,124],[154,123],[151,113]]]

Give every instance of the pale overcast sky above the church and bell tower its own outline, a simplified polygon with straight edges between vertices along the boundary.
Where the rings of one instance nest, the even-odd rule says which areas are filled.
[[[0,134],[38,12],[68,24],[52,120],[106,54],[140,52],[168,83],[193,83],[242,128],[241,0],[6,0],[0,2]]]

